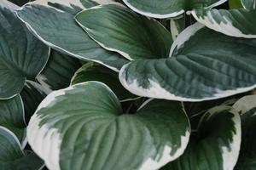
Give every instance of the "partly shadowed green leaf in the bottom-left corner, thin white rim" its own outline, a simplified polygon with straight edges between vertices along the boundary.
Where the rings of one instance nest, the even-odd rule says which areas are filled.
[[[0,169],[36,170],[44,161],[31,152],[24,153],[15,134],[5,127],[0,127]]]

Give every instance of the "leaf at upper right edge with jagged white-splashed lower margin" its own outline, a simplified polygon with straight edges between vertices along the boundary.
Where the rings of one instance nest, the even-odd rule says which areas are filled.
[[[232,37],[256,38],[256,10],[195,9],[192,14],[196,20],[214,31]]]

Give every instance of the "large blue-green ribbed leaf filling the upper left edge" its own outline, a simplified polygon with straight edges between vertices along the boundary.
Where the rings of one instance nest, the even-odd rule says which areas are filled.
[[[49,57],[49,48],[15,15],[15,4],[0,4],[0,99],[19,94],[26,78],[34,80]]]

